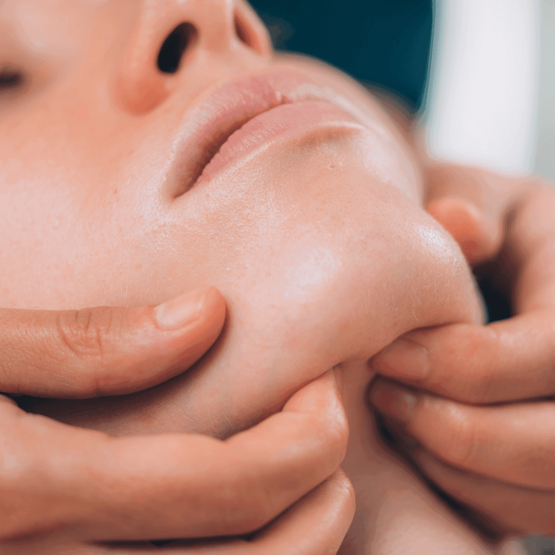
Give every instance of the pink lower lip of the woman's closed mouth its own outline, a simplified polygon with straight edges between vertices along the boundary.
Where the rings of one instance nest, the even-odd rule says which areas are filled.
[[[330,129],[344,132],[363,127],[351,114],[329,102],[281,104],[250,119],[231,134],[206,165],[196,185],[209,181],[228,167],[263,154],[276,144],[302,140]]]

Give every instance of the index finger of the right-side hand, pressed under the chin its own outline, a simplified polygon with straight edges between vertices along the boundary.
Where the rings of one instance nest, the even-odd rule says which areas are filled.
[[[555,313],[416,330],[372,359],[378,374],[466,403],[555,395]]]

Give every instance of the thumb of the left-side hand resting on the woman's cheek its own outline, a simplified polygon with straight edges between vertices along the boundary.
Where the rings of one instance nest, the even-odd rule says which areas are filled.
[[[194,364],[224,320],[215,287],[135,309],[0,309],[0,391],[65,398],[140,391]]]

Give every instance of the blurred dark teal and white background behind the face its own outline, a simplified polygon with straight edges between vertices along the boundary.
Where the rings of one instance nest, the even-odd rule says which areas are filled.
[[[555,180],[555,0],[251,0],[277,49],[400,98],[432,157]],[[553,538],[527,537],[530,555]]]

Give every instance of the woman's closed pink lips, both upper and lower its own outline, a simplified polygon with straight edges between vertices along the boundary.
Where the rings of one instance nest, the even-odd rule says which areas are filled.
[[[362,127],[353,112],[335,91],[289,68],[226,82],[185,113],[172,149],[175,196],[279,140],[323,128]]]

